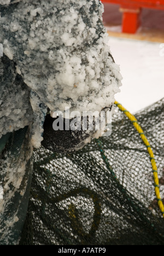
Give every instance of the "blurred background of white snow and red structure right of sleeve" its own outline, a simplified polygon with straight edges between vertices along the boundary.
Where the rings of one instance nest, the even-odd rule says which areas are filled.
[[[161,9],[135,9],[127,4],[124,8],[124,0],[117,0],[118,4],[112,1],[116,0],[102,3],[110,50],[123,77],[116,100],[135,113],[164,97],[164,1],[147,1]],[[132,16],[126,16],[128,11]]]

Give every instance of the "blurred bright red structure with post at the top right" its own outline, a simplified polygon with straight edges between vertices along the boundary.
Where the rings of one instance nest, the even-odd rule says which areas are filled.
[[[101,0],[102,3],[120,5],[123,13],[122,32],[136,33],[140,25],[140,12],[142,8],[164,10],[164,0]]]

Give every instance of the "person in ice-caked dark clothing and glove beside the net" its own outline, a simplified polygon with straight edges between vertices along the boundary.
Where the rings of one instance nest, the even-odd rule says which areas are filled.
[[[67,152],[101,135],[82,130],[67,136],[65,131],[52,133],[54,119],[47,110],[110,110],[121,75],[110,53],[99,0],[0,0],[0,8],[0,241],[17,244],[33,147],[42,142],[50,150]],[[13,201],[16,205],[10,208]]]

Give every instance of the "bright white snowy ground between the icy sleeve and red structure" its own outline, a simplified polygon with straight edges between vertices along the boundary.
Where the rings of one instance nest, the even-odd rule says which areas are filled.
[[[123,77],[117,101],[135,113],[164,97],[164,47],[160,43],[110,37],[109,45]]]

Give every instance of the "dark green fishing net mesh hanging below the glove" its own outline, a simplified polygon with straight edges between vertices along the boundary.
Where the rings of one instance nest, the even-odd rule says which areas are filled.
[[[155,155],[161,197],[163,103],[164,98],[135,115]],[[131,121],[115,108],[109,137],[71,154],[43,147],[34,151],[20,245],[164,245],[147,148]]]

